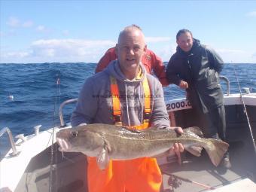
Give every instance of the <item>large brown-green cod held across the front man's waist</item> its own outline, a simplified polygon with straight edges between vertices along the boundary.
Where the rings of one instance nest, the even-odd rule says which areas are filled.
[[[131,160],[164,154],[176,142],[195,156],[200,156],[205,148],[212,163],[218,166],[229,145],[216,139],[203,138],[203,133],[196,126],[183,131],[180,135],[170,129],[157,130],[152,127],[130,130],[97,123],[60,130],[56,133],[56,141],[59,151],[81,152],[96,157],[100,169],[105,169],[109,160]]]

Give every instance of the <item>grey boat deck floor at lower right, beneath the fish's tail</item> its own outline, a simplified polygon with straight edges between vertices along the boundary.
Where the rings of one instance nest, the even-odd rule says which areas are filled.
[[[182,157],[183,163],[181,165],[169,163],[161,166],[164,180],[163,188],[177,192],[196,192],[209,190],[209,187],[218,188],[242,178],[250,178],[251,181],[255,181],[256,159],[253,150],[242,143],[231,143],[231,169],[215,167],[206,153],[203,153],[201,157],[192,157],[186,153]],[[172,181],[171,186],[169,186],[168,181]]]

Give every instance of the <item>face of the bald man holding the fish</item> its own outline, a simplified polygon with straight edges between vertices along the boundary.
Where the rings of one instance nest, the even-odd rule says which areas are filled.
[[[134,29],[123,32],[116,46],[116,53],[120,69],[124,74],[136,72],[145,52],[145,47],[142,32]]]

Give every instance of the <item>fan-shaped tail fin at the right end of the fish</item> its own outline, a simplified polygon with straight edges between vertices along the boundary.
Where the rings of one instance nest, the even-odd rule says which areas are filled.
[[[229,145],[226,142],[222,142],[217,139],[207,139],[206,146],[203,146],[206,149],[207,154],[209,155],[212,163],[215,166],[218,166],[221,163],[221,160],[224,154],[227,152]]]

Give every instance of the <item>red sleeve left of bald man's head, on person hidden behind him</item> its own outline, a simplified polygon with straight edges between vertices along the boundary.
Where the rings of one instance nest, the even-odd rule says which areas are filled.
[[[114,47],[111,47],[107,50],[107,52],[105,52],[104,56],[102,56],[102,59],[99,60],[95,69],[95,73],[102,72],[103,69],[108,66],[109,62],[115,59],[117,59],[117,55],[115,54]]]

